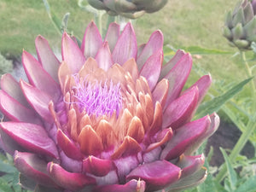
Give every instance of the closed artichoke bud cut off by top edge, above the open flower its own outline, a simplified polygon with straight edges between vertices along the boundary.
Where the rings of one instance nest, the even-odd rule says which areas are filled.
[[[87,0],[96,8],[106,10],[108,15],[121,15],[137,19],[145,13],[154,13],[162,9],[167,0]]]

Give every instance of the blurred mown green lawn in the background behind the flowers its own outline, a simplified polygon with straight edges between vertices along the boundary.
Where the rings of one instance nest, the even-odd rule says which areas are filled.
[[[83,38],[84,29],[93,20],[93,15],[81,10],[75,0],[49,0],[49,4],[59,18],[70,12],[69,29]],[[160,29],[165,44],[176,49],[196,45],[235,53],[236,49],[230,48],[221,34],[224,15],[235,4],[236,1],[223,0],[170,0],[164,9],[137,20],[134,26],[137,41],[148,41],[150,34]],[[20,55],[22,49],[35,53],[33,42],[38,34],[47,38],[53,49],[60,50],[61,37],[49,20],[43,1],[1,0],[0,18],[0,52],[3,55]],[[227,82],[243,79],[245,73],[230,60],[230,56],[202,55],[200,59],[195,58],[194,63],[209,71],[213,79]],[[194,81],[195,75],[192,79]]]

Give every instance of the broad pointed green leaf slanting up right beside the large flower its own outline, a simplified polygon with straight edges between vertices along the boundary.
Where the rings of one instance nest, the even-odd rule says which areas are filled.
[[[197,113],[195,114],[195,119],[199,119],[207,114],[211,114],[213,112],[218,112],[218,110],[222,107],[222,105],[229,101],[230,98],[236,95],[244,85],[246,85],[253,78],[245,79],[241,81],[239,84],[231,87],[230,90],[227,90],[223,95],[214,97],[209,102],[202,103],[197,109]]]

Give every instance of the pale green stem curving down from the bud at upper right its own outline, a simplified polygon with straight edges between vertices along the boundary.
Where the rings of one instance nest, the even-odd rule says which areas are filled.
[[[247,63],[245,52],[241,51],[240,54],[241,54],[241,61],[246,68],[247,78],[252,77],[252,71]],[[250,84],[251,84],[251,91],[252,91],[252,97],[251,97],[253,102],[252,106],[254,109],[256,106],[256,99],[255,99],[256,94],[255,94],[255,84],[253,83],[253,80],[251,81]],[[256,131],[256,113],[254,113],[253,116],[249,117],[249,121],[247,123],[245,131],[242,132],[241,137],[239,138],[235,147],[232,149],[229,156],[231,162],[236,160],[236,157],[240,154],[241,149],[244,148],[245,144],[249,140],[249,137],[251,137],[254,131]],[[220,183],[224,179],[226,174],[227,174],[227,167],[224,165],[220,170],[220,172],[218,172],[218,175],[216,176],[216,181]]]

